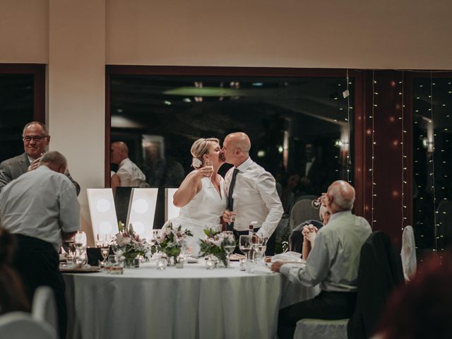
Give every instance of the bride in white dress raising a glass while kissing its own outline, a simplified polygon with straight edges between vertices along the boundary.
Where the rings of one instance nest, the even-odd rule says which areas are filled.
[[[190,172],[174,193],[174,206],[179,216],[170,220],[172,225],[191,230],[193,237],[187,246],[198,256],[199,239],[204,239],[206,227],[220,227],[220,217],[227,207],[224,180],[218,169],[225,163],[217,138],[200,138],[191,146],[194,170]]]

